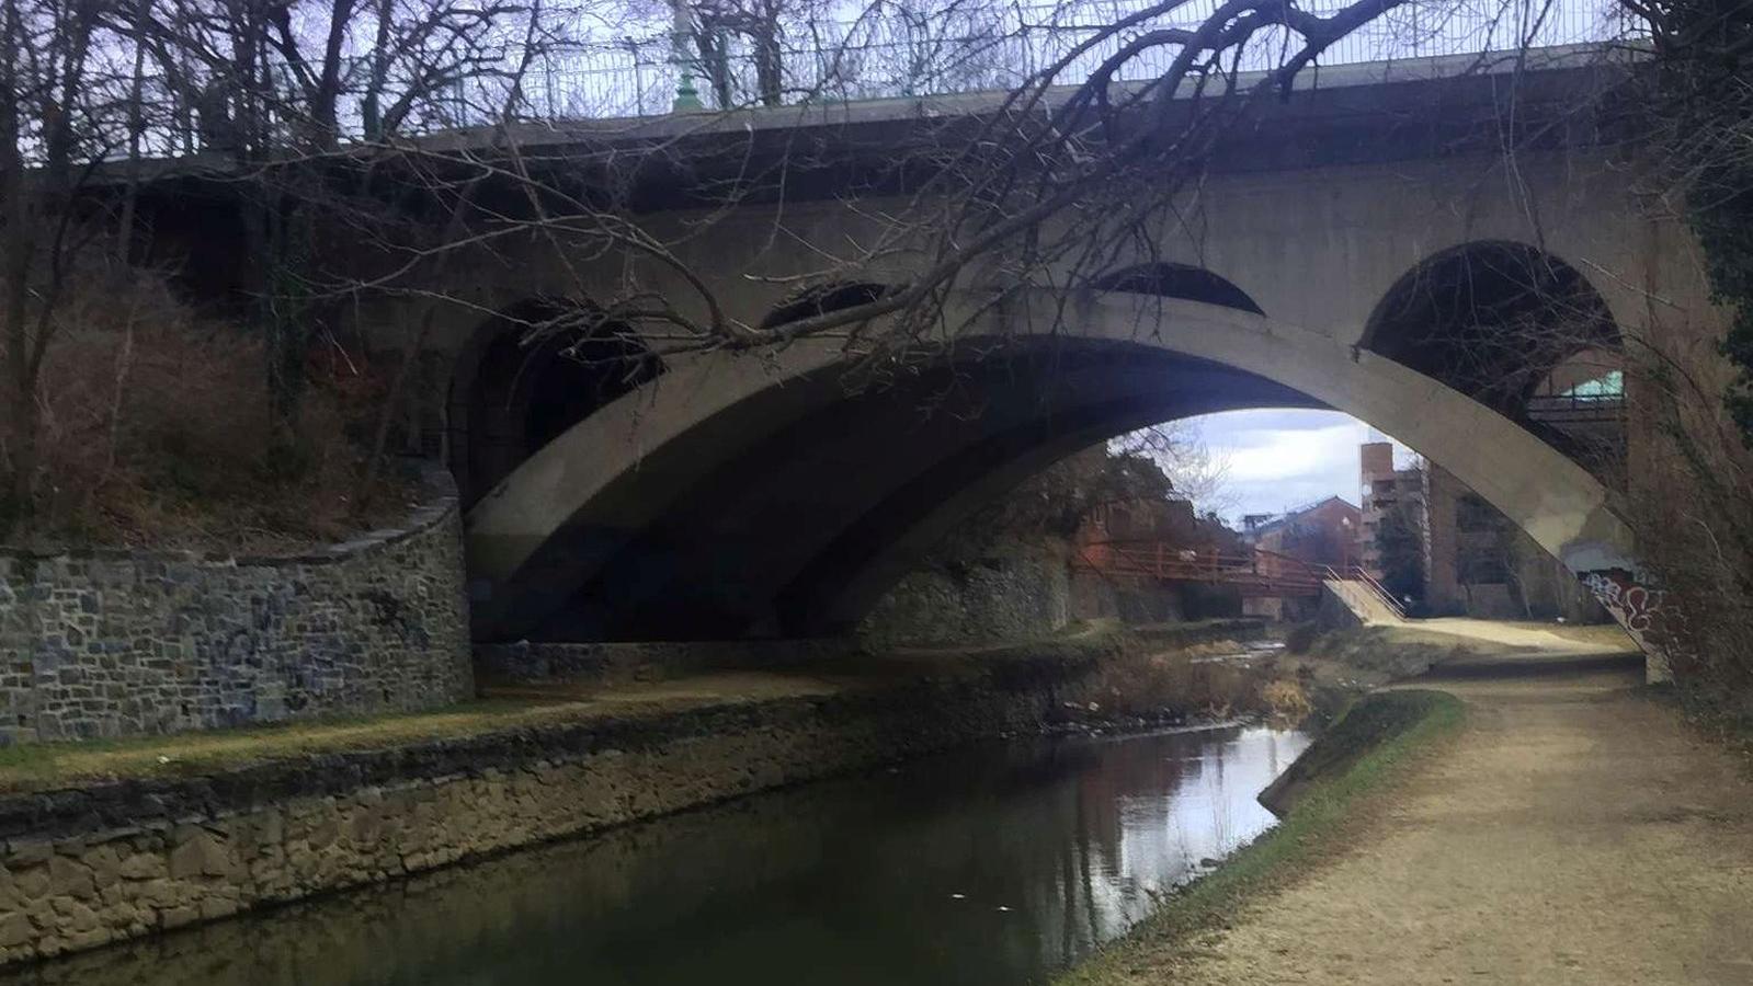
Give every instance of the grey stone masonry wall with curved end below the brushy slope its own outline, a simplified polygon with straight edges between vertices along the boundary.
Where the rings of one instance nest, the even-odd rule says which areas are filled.
[[[473,694],[445,478],[403,527],[310,555],[0,553],[0,746]]]

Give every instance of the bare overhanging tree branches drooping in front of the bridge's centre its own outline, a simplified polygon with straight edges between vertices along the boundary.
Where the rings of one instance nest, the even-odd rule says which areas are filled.
[[[1401,0],[1357,0],[1327,16],[1278,0],[1231,0],[1190,26],[1159,26],[1185,18],[1185,0],[1138,7],[1122,18],[1083,25],[1080,40],[1031,72],[990,112],[950,121],[894,149],[894,170],[924,177],[885,212],[882,229],[792,282],[859,282],[898,257],[913,273],[864,303],[820,310],[785,324],[745,324],[668,245],[649,235],[612,187],[628,149],[605,140],[568,152],[568,166],[601,166],[610,187],[584,194],[552,173],[517,166],[505,149],[454,152],[477,173],[517,182],[542,208],[533,217],[482,217],[456,243],[424,252],[366,287],[389,287],[444,250],[479,249],[489,238],[538,235],[577,256],[633,250],[677,273],[687,294],[659,298],[628,282],[614,298],[596,298],[600,317],[638,326],[664,350],[756,349],[831,329],[854,331],[862,352],[920,345],[943,313],[952,289],[999,285],[999,296],[1031,284],[1066,284],[1099,271],[1113,256],[1148,242],[1182,193],[1203,173],[1204,158],[1238,114],[1290,91],[1297,74],[1350,32]],[[1266,65],[1245,77],[1243,67]],[[642,156],[670,154],[642,149]],[[735,208],[771,194],[791,168],[759,170],[719,182],[710,194]],[[994,303],[999,298],[994,298]],[[875,324],[884,326],[873,331]]]

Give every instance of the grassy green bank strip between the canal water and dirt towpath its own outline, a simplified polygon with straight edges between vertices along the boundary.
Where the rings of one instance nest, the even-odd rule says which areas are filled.
[[[1455,732],[1464,715],[1460,699],[1444,692],[1380,692],[1359,699],[1309,748],[1309,757],[1325,769],[1309,772],[1309,783],[1276,828],[1164,898],[1124,939],[1055,977],[1055,986],[1159,981],[1194,933],[1222,926],[1250,900],[1287,886],[1343,848],[1360,799],[1399,774],[1409,757]]]

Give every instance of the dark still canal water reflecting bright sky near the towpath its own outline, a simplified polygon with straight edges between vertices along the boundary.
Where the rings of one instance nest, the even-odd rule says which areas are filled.
[[[1255,795],[1306,746],[1266,727],[983,744],[0,982],[1040,982],[1271,827]]]

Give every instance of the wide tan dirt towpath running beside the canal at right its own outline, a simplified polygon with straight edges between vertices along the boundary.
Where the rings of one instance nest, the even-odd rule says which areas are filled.
[[[1516,655],[1416,687],[1469,725],[1367,844],[1139,982],[1753,984],[1753,783],[1641,664]]]

